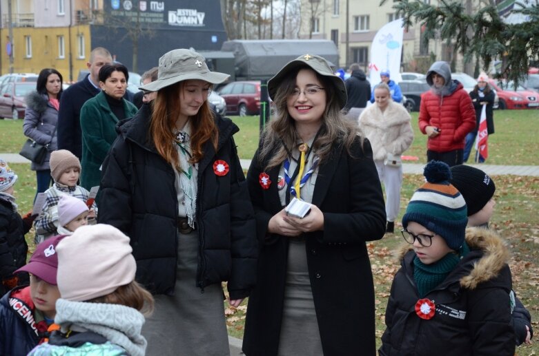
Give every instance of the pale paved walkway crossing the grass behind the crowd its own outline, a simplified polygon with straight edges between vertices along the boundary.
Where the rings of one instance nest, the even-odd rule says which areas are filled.
[[[30,163],[29,160],[19,154],[2,154],[0,158],[8,163]],[[248,169],[251,160],[240,160],[242,167]],[[471,165],[482,169],[489,176],[500,176],[502,174],[512,174],[514,176],[532,176],[539,177],[539,165],[537,166],[500,166],[500,165]],[[405,174],[423,174],[424,164],[404,163],[402,170]]]

